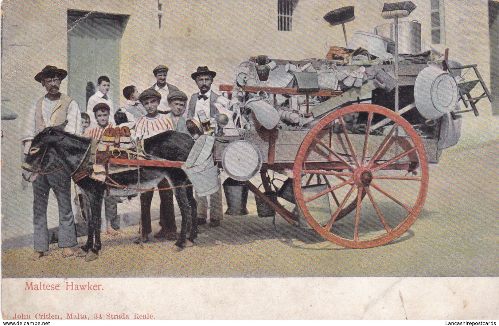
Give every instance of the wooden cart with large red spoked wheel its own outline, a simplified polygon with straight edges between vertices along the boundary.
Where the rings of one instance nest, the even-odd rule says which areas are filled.
[[[426,64],[399,67],[399,85],[410,89]],[[292,88],[246,86],[243,89],[300,94]],[[221,85],[220,90],[230,93],[232,85]],[[319,91],[306,95],[308,102],[308,96],[339,94],[340,91]],[[428,190],[428,163],[437,163],[440,155],[437,148],[440,123],[435,126],[435,137],[421,138],[402,115],[376,105],[386,98],[375,98],[373,94],[370,99],[372,103],[335,109],[308,130],[260,128],[246,131],[242,137],[217,137],[215,160],[222,161],[223,152],[231,142],[248,140],[262,154],[260,175],[265,192],[275,190],[272,188],[275,171],[292,170],[293,203],[299,211],[286,209],[289,205],[285,201],[270,200],[250,180],[245,181],[256,196],[289,223],[295,225],[301,214],[320,235],[344,247],[386,244],[406,232],[423,208]],[[352,132],[349,124],[352,116],[362,119],[364,132]],[[389,121],[383,133],[371,128],[383,119]]]

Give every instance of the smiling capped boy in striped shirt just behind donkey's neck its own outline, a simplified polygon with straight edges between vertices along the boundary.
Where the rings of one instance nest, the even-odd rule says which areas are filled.
[[[109,122],[109,105],[106,103],[97,103],[93,107],[94,118],[97,125],[93,125],[85,130],[85,137],[100,140],[107,128],[114,128],[114,125]],[[106,209],[106,220],[111,222],[111,227],[115,230],[120,228],[120,216],[118,215],[117,202],[115,196],[106,196],[104,198],[104,207]]]

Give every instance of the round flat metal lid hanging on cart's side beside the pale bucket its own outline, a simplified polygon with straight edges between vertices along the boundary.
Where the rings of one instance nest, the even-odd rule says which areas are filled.
[[[260,150],[248,140],[232,142],[222,154],[222,166],[230,177],[238,181],[255,176],[261,164]]]

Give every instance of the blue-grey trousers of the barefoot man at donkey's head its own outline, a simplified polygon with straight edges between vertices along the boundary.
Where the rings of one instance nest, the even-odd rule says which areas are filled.
[[[48,250],[47,205],[50,188],[59,207],[59,247],[76,245],[76,229],[71,208],[71,177],[65,170],[39,174],[33,185],[33,242],[34,251]]]

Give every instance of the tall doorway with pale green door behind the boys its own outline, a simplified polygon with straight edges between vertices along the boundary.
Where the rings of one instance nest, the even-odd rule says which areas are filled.
[[[82,112],[96,90],[97,78],[111,80],[110,98],[120,101],[120,41],[129,15],[67,10],[68,95]]]

